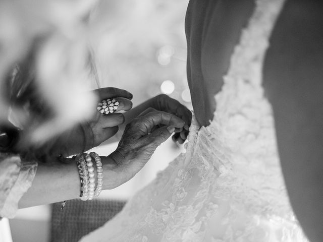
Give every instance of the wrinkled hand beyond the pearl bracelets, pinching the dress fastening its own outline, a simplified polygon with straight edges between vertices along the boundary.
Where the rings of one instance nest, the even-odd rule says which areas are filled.
[[[126,126],[118,148],[109,155],[116,165],[117,179],[107,184],[120,186],[131,179],[150,159],[155,149],[176,130],[183,129],[185,122],[163,111],[144,112]]]

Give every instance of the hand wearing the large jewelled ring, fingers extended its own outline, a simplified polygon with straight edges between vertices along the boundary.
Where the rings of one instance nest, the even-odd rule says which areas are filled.
[[[118,132],[118,126],[125,121],[124,115],[118,111],[127,111],[132,108],[130,101],[132,94],[126,90],[112,87],[96,89],[94,92],[97,94],[97,103],[102,99],[116,99],[119,102],[117,112],[103,115],[95,110],[90,120],[48,141],[37,150],[37,153],[47,156],[73,155],[98,146]]]

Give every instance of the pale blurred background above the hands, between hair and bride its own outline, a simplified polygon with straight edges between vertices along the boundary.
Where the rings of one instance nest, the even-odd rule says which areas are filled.
[[[187,0],[99,2],[89,20],[95,26],[91,42],[98,85],[131,91],[135,105],[166,93],[190,106],[187,4]]]

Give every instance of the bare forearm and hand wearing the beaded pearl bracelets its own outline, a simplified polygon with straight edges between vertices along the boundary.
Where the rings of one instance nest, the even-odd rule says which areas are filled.
[[[148,106],[149,103],[144,103],[141,110],[145,110]],[[139,108],[136,110],[141,112]],[[185,122],[176,115],[160,111],[149,112],[134,119],[132,124],[126,127],[118,148],[109,156],[100,157],[102,189],[114,189],[131,179],[150,159],[157,146],[165,142],[176,128],[182,129],[184,124]],[[154,129],[159,126],[163,127]],[[154,131],[148,134],[151,130]],[[52,159],[48,163],[39,163],[32,186],[21,198],[19,208],[60,202],[80,196],[81,179],[75,159]],[[92,160],[93,166],[94,163],[96,162]],[[90,166],[93,167],[92,165]],[[96,168],[93,171],[96,184],[98,181]]]

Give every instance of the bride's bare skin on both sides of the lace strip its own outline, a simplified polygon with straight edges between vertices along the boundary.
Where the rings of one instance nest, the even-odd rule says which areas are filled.
[[[217,18],[206,17],[201,28],[196,22],[205,16],[200,14],[203,8],[216,11]],[[200,125],[212,119],[213,97],[222,88],[231,54],[253,10],[250,0],[190,1],[188,82]],[[322,13],[320,1],[286,1],[263,66],[263,87],[274,111],[289,198],[310,241],[323,237]]]

